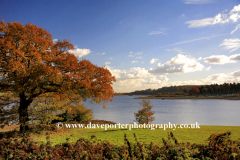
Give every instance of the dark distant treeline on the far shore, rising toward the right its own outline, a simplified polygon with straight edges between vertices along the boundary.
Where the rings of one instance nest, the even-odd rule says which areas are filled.
[[[186,94],[193,87],[197,87],[200,94],[235,94],[240,92],[240,83],[224,83],[211,85],[182,85],[163,87],[159,89],[146,89],[130,93],[115,93],[115,95],[157,95],[162,94]]]

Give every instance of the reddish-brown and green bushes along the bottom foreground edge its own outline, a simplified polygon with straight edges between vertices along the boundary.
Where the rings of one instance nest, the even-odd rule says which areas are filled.
[[[37,145],[28,136],[0,139],[0,153],[5,159],[240,159],[240,142],[232,141],[230,132],[211,135],[208,144],[179,143],[172,132],[163,146],[141,144],[135,137],[135,144],[128,141],[126,145],[115,146],[108,141],[92,137],[91,140],[80,138],[75,144],[66,143],[51,146],[47,143]]]

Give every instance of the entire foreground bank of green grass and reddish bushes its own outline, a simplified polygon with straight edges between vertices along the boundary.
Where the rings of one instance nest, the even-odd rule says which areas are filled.
[[[240,159],[240,126],[200,127],[8,132],[15,138],[0,139],[0,159]]]

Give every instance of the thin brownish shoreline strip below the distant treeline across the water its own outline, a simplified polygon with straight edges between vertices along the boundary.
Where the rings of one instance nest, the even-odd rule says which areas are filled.
[[[240,96],[214,96],[214,97],[135,97],[134,99],[223,99],[223,100],[240,100]]]

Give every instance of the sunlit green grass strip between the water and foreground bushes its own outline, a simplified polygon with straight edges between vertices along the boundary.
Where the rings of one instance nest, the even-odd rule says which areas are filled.
[[[124,134],[130,142],[135,143],[133,133],[136,133],[140,143],[162,145],[162,138],[167,139],[168,133],[173,132],[180,143],[190,142],[197,144],[205,144],[211,134],[220,134],[231,131],[232,140],[240,140],[240,126],[200,126],[200,129],[66,129],[62,132],[41,132],[41,134],[32,134],[31,138],[36,142],[43,141],[46,143],[47,134],[50,133],[50,141],[52,145],[65,143],[66,138],[70,138],[69,142],[76,142],[79,138],[91,139],[95,136],[99,140],[107,140],[114,145],[124,145]]]

